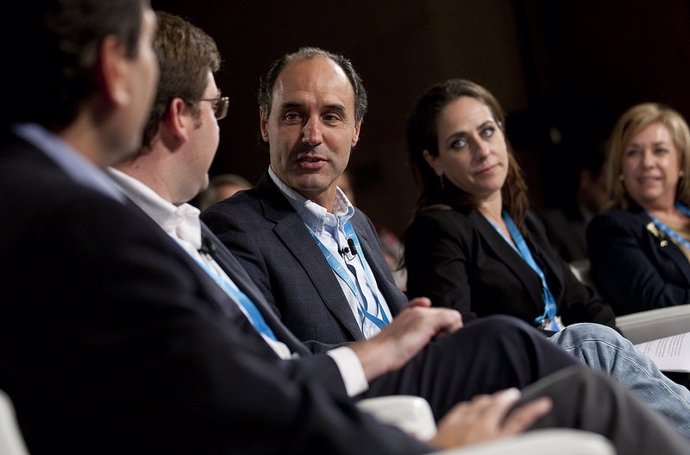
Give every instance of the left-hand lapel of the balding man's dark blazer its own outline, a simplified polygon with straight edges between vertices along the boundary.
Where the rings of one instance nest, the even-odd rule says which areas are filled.
[[[323,304],[347,328],[353,339],[363,340],[364,335],[357,326],[338,279],[302,219],[268,174],[264,174],[257,188],[263,193],[264,216],[275,224],[276,236],[300,263]]]

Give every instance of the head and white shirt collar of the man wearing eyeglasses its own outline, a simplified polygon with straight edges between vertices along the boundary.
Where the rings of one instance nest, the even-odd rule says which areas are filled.
[[[202,247],[199,210],[187,202],[208,187],[220,140],[218,120],[228,113],[228,97],[221,96],[214,76],[220,53],[200,28],[179,16],[156,14],[154,48],[164,77],[141,149],[109,172],[130,199],[211,272],[218,266]]]

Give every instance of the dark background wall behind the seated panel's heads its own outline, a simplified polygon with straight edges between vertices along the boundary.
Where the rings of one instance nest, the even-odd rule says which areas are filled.
[[[486,86],[503,104],[508,137],[535,208],[564,197],[568,169],[618,115],[661,101],[690,118],[687,0],[160,0],[218,42],[217,82],[230,97],[211,174],[255,181],[256,89],[270,63],[305,45],[349,57],[370,108],[350,169],[358,205],[401,233],[417,186],[404,128],[416,97],[450,77]]]

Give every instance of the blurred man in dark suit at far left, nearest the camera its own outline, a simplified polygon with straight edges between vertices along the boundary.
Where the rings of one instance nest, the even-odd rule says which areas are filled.
[[[107,178],[103,168],[140,139],[153,95],[147,4],[15,6],[0,29],[4,55],[25,70],[8,74],[13,109],[0,125],[0,387],[30,452],[428,452],[357,412],[329,356],[281,360]],[[185,110],[171,103],[174,115]],[[687,442],[609,380],[558,374],[535,389],[555,401],[540,425],[576,426],[584,413],[620,449],[632,450],[629,429],[633,443],[639,434],[687,453]],[[560,398],[559,385],[580,392]]]

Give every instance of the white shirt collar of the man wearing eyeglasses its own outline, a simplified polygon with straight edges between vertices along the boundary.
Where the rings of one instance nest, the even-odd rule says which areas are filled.
[[[199,209],[190,204],[176,206],[122,171],[109,168],[108,172],[130,199],[182,246],[201,248]]]

